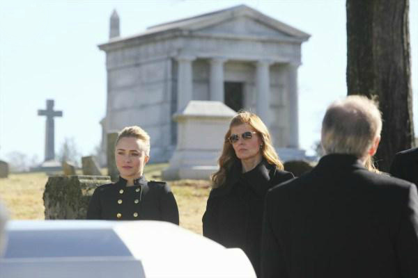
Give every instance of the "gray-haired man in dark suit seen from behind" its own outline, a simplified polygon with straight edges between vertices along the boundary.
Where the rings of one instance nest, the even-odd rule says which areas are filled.
[[[266,197],[261,277],[418,277],[417,188],[364,167],[381,129],[366,97],[327,109],[326,155]]]

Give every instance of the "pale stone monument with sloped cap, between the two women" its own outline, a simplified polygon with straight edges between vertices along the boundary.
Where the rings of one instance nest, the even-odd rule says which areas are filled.
[[[218,169],[217,158],[234,115],[220,101],[189,101],[173,115],[178,123],[177,148],[162,179],[209,179]]]

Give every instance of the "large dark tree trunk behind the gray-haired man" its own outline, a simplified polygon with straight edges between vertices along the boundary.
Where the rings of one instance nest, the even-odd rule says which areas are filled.
[[[348,95],[376,97],[383,115],[375,157],[387,172],[415,145],[410,82],[409,0],[347,0]]]

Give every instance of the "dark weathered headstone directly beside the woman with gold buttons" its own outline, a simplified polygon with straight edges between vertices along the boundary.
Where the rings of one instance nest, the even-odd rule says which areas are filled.
[[[111,183],[107,176],[49,177],[43,194],[45,219],[86,219],[96,187]]]

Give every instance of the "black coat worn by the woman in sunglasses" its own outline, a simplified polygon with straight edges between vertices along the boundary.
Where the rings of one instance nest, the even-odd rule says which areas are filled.
[[[292,179],[293,174],[267,161],[244,174],[241,169],[241,163],[236,163],[226,183],[210,191],[202,219],[203,236],[225,247],[241,248],[258,272],[265,194],[275,184]]]

